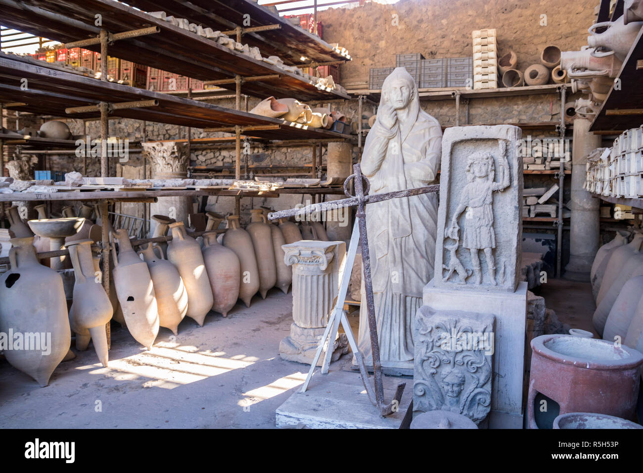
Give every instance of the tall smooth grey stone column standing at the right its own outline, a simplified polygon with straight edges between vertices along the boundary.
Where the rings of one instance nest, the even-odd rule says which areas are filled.
[[[590,281],[590,270],[594,256],[599,249],[600,199],[583,189],[586,177],[588,154],[601,146],[601,136],[590,132],[589,120],[574,120],[574,142],[572,143],[572,198],[570,209],[570,255],[565,266],[565,279]]]

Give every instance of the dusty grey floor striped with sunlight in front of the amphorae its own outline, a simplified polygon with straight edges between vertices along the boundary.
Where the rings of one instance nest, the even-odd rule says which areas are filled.
[[[308,371],[278,355],[291,310],[291,294],[271,290],[201,328],[183,320],[177,337],[161,328],[150,351],[113,324],[109,367],[90,345],[47,387],[3,360],[0,427],[274,428],[275,409]]]

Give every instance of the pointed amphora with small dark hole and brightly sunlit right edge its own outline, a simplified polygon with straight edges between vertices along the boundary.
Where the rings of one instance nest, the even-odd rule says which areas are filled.
[[[152,276],[147,263],[141,261],[132,249],[127,231],[116,230],[113,236],[118,241],[118,255],[114,244],[111,251],[118,302],[129,333],[137,342],[150,349],[159,333],[159,313]]]

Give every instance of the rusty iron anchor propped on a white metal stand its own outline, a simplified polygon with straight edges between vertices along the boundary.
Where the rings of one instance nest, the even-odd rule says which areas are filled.
[[[351,181],[354,182],[354,188],[355,188],[354,196],[350,194],[350,191],[349,191],[349,185]],[[350,278],[350,272],[352,271],[352,261],[347,261],[345,263],[345,269],[342,276],[340,293],[338,294],[338,301],[336,302],[336,306],[333,312],[331,313],[331,319],[329,319],[329,323],[327,325],[327,329],[323,335],[323,338],[320,340],[320,346],[318,346],[316,356],[311,364],[309,375],[306,378],[306,382],[303,385],[303,391],[305,391],[308,385],[308,382],[312,376],[312,373],[316,367],[317,360],[320,357],[320,354],[326,342],[326,339],[327,337],[329,337],[329,335],[331,335],[331,340],[329,340],[329,344],[328,344],[329,348],[327,349],[326,357],[321,368],[322,373],[327,372],[328,364],[330,362],[329,360],[330,355],[328,352],[332,351],[331,347],[332,347],[332,342],[334,341],[333,337],[337,331],[337,328],[341,320],[341,323],[345,327],[345,331],[347,331],[347,336],[349,337],[351,348],[353,349],[356,360],[358,361],[359,374],[364,383],[364,387],[366,388],[368,398],[374,405],[376,405],[376,407],[380,409],[380,413],[382,416],[388,416],[394,413],[395,411],[397,411],[397,407],[399,407],[399,403],[401,401],[402,393],[404,391],[404,387],[406,386],[406,383],[399,383],[397,385],[395,396],[392,402],[390,403],[385,402],[384,385],[382,380],[382,364],[379,357],[379,338],[377,337],[377,321],[375,318],[373,284],[372,284],[371,269],[370,269],[370,253],[368,248],[368,234],[367,234],[367,223],[366,223],[366,205],[368,203],[381,202],[388,199],[397,199],[402,197],[417,196],[419,194],[426,194],[428,192],[437,192],[440,189],[440,185],[439,184],[428,185],[426,187],[417,187],[415,189],[404,189],[404,190],[396,190],[394,192],[386,192],[383,194],[367,195],[369,189],[370,189],[370,183],[368,182],[368,179],[365,176],[363,176],[363,174],[361,173],[361,167],[359,166],[359,163],[358,163],[353,166],[353,174],[351,174],[344,182],[344,193],[349,197],[348,199],[316,203],[312,205],[307,205],[306,207],[302,207],[301,209],[290,209],[290,210],[281,210],[280,212],[272,212],[268,214],[268,219],[276,220],[279,218],[289,218],[289,217],[298,217],[298,216],[301,217],[314,212],[323,212],[323,211],[327,212],[329,210],[337,210],[345,207],[355,207],[355,206],[358,207],[357,214],[356,214],[358,218],[358,222],[356,223],[356,226],[353,230],[354,235],[351,237],[351,240],[350,240],[351,247],[349,248],[349,255],[352,254],[352,257],[354,257],[355,246],[358,243],[358,238],[355,235],[355,233],[356,233],[356,230],[358,230],[359,237],[361,237],[363,277],[364,277],[364,286],[365,286],[366,302],[367,302],[368,331],[370,333],[370,346],[373,354],[373,377],[374,377],[374,384],[375,384],[375,392],[373,393],[373,390],[370,387],[370,382],[368,382],[368,372],[364,365],[363,357],[361,353],[359,353],[359,349],[357,349],[357,346],[354,343],[354,337],[352,337],[352,333],[348,333],[350,331],[350,326],[346,319],[345,313],[343,313],[343,310],[341,310],[341,308],[343,307],[343,300],[344,300],[345,292],[347,288],[347,281]],[[331,332],[331,325],[332,325],[332,332]],[[373,399],[373,396],[375,397],[375,399]]]

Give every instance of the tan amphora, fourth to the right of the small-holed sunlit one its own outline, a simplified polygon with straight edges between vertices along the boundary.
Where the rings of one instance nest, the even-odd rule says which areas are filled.
[[[228,216],[228,230],[223,236],[223,246],[230,248],[239,257],[239,299],[249,307],[252,296],[259,290],[259,269],[252,239],[246,230],[239,227],[238,215]]]

